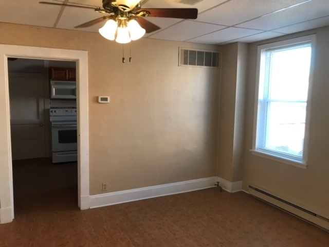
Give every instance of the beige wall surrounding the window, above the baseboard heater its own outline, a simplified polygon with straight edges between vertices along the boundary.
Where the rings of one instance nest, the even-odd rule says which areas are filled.
[[[257,46],[316,33],[310,112],[308,167],[301,169],[251,154]],[[249,46],[243,188],[253,184],[329,218],[329,27],[266,40]]]

